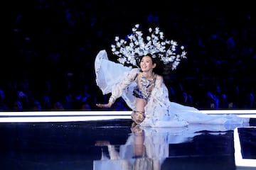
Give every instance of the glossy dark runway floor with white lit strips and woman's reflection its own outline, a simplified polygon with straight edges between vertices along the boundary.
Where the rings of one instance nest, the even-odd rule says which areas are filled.
[[[253,114],[246,127],[142,128],[128,113],[55,113],[1,113],[1,170],[256,169]]]

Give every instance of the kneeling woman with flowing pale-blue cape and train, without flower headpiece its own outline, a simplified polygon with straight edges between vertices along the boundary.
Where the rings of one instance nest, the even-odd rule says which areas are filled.
[[[191,123],[203,124],[246,124],[247,118],[235,115],[206,115],[196,108],[169,101],[164,79],[156,74],[157,63],[151,55],[145,55],[140,62],[141,69],[124,67],[108,60],[102,50],[95,60],[97,85],[103,94],[112,93],[106,104],[97,103],[100,108],[110,108],[117,98],[124,98],[132,109],[132,120],[142,126],[182,127]]]

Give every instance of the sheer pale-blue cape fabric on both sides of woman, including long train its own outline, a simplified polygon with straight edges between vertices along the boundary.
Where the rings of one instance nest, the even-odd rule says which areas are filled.
[[[95,59],[97,86],[103,94],[112,93],[111,100],[122,97],[133,111],[135,97],[132,91],[137,86],[134,81],[138,68],[124,67],[108,60],[107,52],[100,51]],[[149,127],[183,127],[188,124],[236,124],[249,125],[249,118],[236,115],[207,115],[191,106],[183,106],[169,101],[169,93],[163,79],[158,76],[145,107],[145,120],[140,124]]]

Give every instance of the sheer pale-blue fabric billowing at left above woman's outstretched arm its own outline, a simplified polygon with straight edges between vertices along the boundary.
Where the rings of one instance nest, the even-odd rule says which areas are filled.
[[[124,67],[122,64],[108,60],[105,50],[101,50],[95,59],[96,83],[102,90],[102,94],[112,93],[114,99],[122,96],[132,110],[135,110],[135,98],[132,91],[136,86],[133,79],[137,72],[139,69]]]

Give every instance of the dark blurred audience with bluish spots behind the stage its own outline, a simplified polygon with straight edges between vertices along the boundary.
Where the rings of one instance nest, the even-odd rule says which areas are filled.
[[[256,28],[250,6],[213,17],[221,9],[208,6],[202,14],[195,4],[186,8],[191,13],[186,16],[176,2],[168,14],[137,10],[128,18],[112,3],[103,3],[103,11],[97,1],[16,4],[20,10],[9,13],[12,50],[1,59],[10,67],[0,69],[0,111],[98,109],[95,55],[110,47],[116,34],[127,35],[139,16],[142,26],[161,25],[166,37],[187,47],[188,59],[166,82],[171,101],[200,109],[256,108]],[[128,107],[120,100],[112,109]]]

